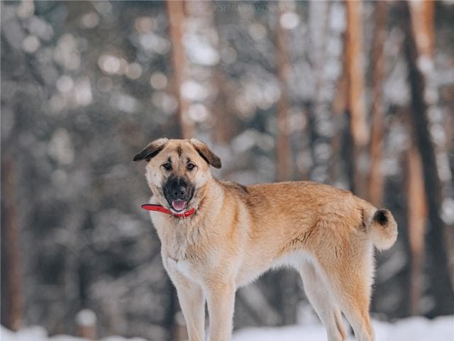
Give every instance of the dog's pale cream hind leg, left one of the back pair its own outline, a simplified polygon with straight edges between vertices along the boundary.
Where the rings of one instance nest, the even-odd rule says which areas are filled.
[[[333,296],[328,291],[324,278],[309,261],[301,264],[299,273],[304,283],[304,291],[323,325],[329,341],[347,340],[341,317],[341,310],[336,306]]]

